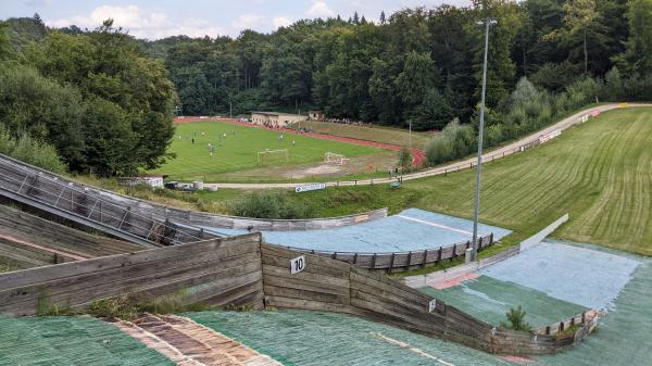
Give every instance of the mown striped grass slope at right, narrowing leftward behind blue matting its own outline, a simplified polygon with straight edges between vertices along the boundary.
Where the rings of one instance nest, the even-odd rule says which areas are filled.
[[[482,173],[481,219],[516,231],[511,240],[518,240],[569,213],[570,222],[555,237],[652,255],[651,146],[652,109],[626,109],[603,113],[525,153],[489,162]],[[315,216],[418,207],[471,217],[474,174],[405,181],[398,190],[381,185],[291,197],[314,204]],[[228,195],[223,190],[220,199]]]

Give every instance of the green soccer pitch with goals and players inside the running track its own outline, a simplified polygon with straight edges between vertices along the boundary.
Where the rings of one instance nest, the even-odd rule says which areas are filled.
[[[279,139],[281,134],[283,139]],[[214,147],[212,156],[209,143]],[[259,152],[283,149],[287,149],[289,161],[285,161],[285,154],[279,154],[259,164]],[[192,179],[261,166],[321,162],[326,152],[355,157],[374,154],[380,149],[224,122],[195,122],[176,126],[168,151],[174,152],[176,159],[149,173],[168,174],[173,179]]]

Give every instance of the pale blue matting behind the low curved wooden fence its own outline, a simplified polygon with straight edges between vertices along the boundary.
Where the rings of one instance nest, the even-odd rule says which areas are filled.
[[[238,235],[243,230],[204,227],[221,235]],[[472,239],[473,222],[410,209],[398,215],[335,229],[304,231],[263,231],[267,242],[333,252],[408,252],[446,247]],[[480,236],[493,232],[496,240],[512,231],[480,224]]]

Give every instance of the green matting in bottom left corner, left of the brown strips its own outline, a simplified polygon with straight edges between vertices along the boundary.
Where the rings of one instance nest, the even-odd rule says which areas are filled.
[[[0,365],[174,366],[105,321],[86,317],[0,317]]]

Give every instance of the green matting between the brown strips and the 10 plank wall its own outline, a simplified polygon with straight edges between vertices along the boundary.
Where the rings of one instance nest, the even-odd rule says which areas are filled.
[[[204,312],[183,314],[285,365],[504,365],[503,359],[452,342],[412,333],[344,314]],[[385,337],[410,344],[419,355]]]

